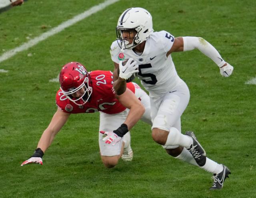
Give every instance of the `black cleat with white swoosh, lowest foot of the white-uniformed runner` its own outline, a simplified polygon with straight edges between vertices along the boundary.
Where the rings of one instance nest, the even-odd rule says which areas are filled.
[[[214,181],[213,181],[213,184],[212,184],[212,187],[210,188],[210,190],[222,189],[225,179],[228,177],[229,174],[231,174],[228,167],[226,167],[224,165],[222,165],[222,166],[223,166],[222,172],[220,172],[218,174],[213,174],[212,178]]]

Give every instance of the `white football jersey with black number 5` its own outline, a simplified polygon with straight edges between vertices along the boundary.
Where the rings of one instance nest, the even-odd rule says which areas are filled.
[[[166,53],[174,43],[174,36],[166,31],[154,32],[146,40],[143,53],[139,56],[133,50],[122,49],[114,41],[110,47],[112,61],[134,58],[139,64],[138,78],[150,94],[164,94],[174,90],[178,76],[171,55]]]

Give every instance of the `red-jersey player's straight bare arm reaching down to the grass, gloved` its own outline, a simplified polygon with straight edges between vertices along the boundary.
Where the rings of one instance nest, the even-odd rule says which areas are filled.
[[[62,126],[68,120],[70,114],[63,112],[60,109],[57,109],[56,113],[52,117],[52,120],[49,126],[44,130],[34,154],[26,161],[24,161],[21,166],[25,164],[43,164],[42,157],[47,148],[52,144],[52,141],[56,134],[60,131]]]

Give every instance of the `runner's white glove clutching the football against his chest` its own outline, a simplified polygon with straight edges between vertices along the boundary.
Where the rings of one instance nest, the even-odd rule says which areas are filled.
[[[139,65],[133,58],[129,58],[125,65],[123,65],[125,61],[119,62],[119,77],[127,80],[132,76],[132,74],[139,72]]]

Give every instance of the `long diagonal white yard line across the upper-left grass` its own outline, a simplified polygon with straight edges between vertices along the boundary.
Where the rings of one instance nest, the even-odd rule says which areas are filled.
[[[38,44],[40,41],[45,40],[46,38],[57,34],[58,32],[61,32],[62,30],[64,30],[65,28],[72,26],[73,24],[79,22],[80,20],[83,20],[84,18],[100,11],[103,10],[104,8],[106,8],[107,6],[114,4],[115,2],[118,2],[119,0],[106,0],[105,2],[98,4],[97,6],[93,6],[92,8],[90,8],[89,10],[86,10],[85,12],[78,14],[76,16],[74,16],[74,18],[67,20],[65,22],[63,22],[62,24],[58,25],[55,28],[52,28],[51,30],[49,30],[48,32],[44,32],[43,34],[41,34],[40,36],[31,39],[30,41],[10,50],[5,52],[4,54],[2,54],[0,56],[0,62],[3,62],[4,60],[7,60],[8,58],[11,58],[12,56],[14,56],[15,54],[17,54],[18,52],[22,52],[24,50],[27,50],[28,48],[31,48],[32,46]]]

